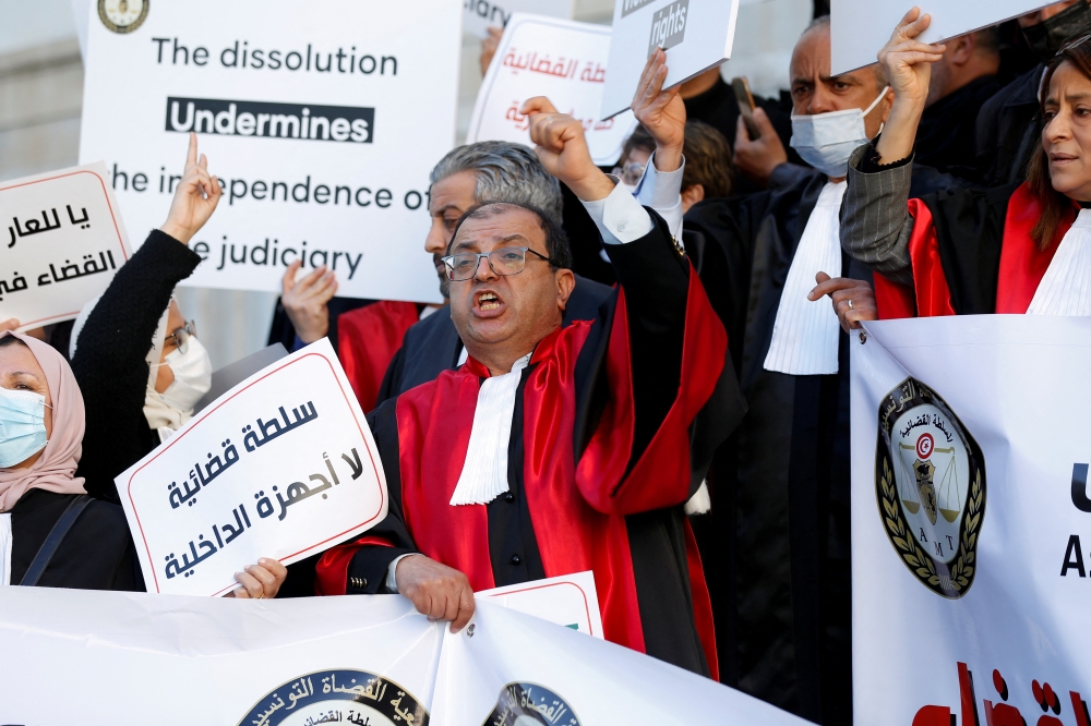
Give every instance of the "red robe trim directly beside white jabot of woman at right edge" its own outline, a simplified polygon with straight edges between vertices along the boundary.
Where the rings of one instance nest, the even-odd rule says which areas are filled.
[[[1042,216],[1042,204],[1023,183],[1008,202],[1004,219],[1004,245],[1000,247],[1000,273],[996,281],[996,312],[1022,315],[1030,307],[1060,240],[1076,221],[1067,217],[1057,228],[1053,242],[1045,251],[1039,250],[1030,232]]]

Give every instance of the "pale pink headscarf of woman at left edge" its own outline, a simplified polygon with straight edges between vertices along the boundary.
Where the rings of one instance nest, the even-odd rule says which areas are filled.
[[[29,469],[0,469],[0,512],[10,511],[27,489],[38,488],[60,494],[86,494],[83,477],[73,476],[83,453],[83,394],[64,356],[37,338],[17,332],[14,336],[29,347],[49,386],[53,427],[41,456]]]

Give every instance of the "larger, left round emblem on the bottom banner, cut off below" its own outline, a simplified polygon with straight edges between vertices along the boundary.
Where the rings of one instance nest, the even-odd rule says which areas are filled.
[[[363,670],[319,670],[278,687],[239,726],[428,726],[428,711],[406,689]]]

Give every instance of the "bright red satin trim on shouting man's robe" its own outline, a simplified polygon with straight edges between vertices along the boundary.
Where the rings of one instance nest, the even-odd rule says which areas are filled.
[[[688,497],[688,428],[722,373],[727,334],[691,270],[680,395],[624,476],[635,422],[623,292],[607,351],[613,400],[577,471],[575,367],[590,330],[590,323],[577,322],[535,349],[523,399],[525,495],[546,577],[592,570],[607,640],[645,652],[624,516],[679,506]],[[495,585],[488,510],[448,503],[466,458],[482,376],[488,371],[471,358],[397,403],[406,525],[420,552],[463,571],[475,591]]]

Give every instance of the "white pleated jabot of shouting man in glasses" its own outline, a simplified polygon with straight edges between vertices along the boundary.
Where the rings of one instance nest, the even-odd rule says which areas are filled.
[[[463,473],[451,495],[452,507],[489,504],[508,491],[507,447],[512,439],[515,396],[530,355],[527,353],[517,360],[511,373],[487,378],[481,384]]]

